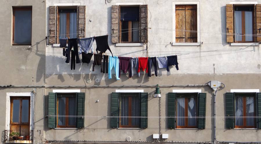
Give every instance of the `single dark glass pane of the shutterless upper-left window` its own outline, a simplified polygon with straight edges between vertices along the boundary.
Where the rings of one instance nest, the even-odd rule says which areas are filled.
[[[31,44],[32,10],[14,10],[14,44]]]

